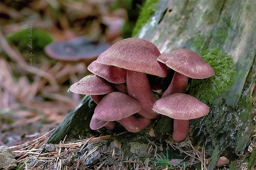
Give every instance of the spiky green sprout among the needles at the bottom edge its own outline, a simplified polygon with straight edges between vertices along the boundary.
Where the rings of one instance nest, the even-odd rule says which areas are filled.
[[[166,149],[166,156],[162,152],[161,152],[161,154],[163,155],[163,159],[156,158],[156,161],[152,162],[152,163],[159,163],[159,165],[157,165],[155,167],[156,170],[160,170],[163,168],[165,168],[166,170],[174,169],[174,168],[172,168],[172,166],[178,166],[179,168],[181,168],[180,165],[182,163],[172,163],[171,161],[169,161],[167,149]],[[184,170],[185,170],[185,163],[184,163]]]

